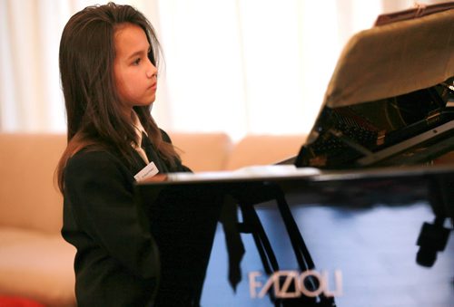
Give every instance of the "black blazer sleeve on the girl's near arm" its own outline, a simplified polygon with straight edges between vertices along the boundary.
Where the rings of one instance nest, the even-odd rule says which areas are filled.
[[[134,202],[133,176],[113,154],[79,152],[64,173],[64,202],[78,231],[132,273],[159,274],[159,254],[143,208]]]

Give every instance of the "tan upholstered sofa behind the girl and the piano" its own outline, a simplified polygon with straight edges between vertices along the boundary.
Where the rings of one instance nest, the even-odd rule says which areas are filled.
[[[272,164],[305,135],[169,133],[194,172]],[[74,306],[74,253],[60,235],[63,199],[54,169],[64,134],[0,133],[0,306]]]

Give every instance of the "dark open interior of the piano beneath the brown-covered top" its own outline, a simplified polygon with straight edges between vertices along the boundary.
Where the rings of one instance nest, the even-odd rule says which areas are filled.
[[[326,107],[309,139],[295,161],[297,167],[436,163],[454,149],[454,78],[378,101]]]

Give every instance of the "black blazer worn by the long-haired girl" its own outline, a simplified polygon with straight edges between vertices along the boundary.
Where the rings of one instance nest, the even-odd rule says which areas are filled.
[[[165,132],[163,139],[170,142]],[[150,149],[160,173],[189,171],[180,161],[171,168]],[[62,235],[77,249],[79,306],[153,305],[160,258],[145,210],[133,200],[133,176],[144,167],[138,154],[131,164],[104,150],[82,150],[67,162]]]

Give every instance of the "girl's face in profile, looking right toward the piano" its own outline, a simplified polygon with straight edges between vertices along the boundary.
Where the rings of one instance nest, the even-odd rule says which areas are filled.
[[[156,98],[157,69],[148,59],[150,43],[143,29],[121,24],[114,34],[114,78],[126,111],[147,106]]]

